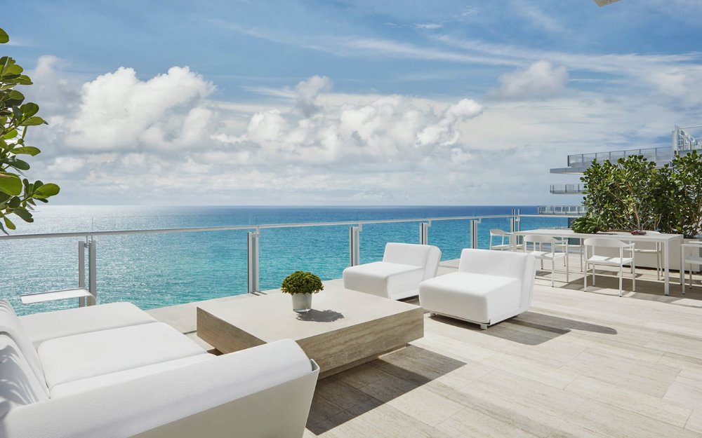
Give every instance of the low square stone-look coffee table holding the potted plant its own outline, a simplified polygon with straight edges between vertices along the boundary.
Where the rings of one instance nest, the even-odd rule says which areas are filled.
[[[314,294],[312,307],[295,313],[291,297],[279,292],[204,303],[197,307],[197,336],[222,353],[293,339],[319,364],[319,378],[424,336],[423,308],[402,301],[336,289]]]

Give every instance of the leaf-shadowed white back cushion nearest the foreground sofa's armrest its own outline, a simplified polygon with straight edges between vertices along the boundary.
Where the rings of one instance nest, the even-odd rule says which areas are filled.
[[[13,406],[46,399],[46,385],[34,374],[17,343],[0,334],[0,417]]]

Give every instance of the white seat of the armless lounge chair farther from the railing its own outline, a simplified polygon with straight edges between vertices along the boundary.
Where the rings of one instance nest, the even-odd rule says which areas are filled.
[[[515,278],[455,272],[421,282],[419,303],[431,312],[490,324],[519,308],[521,293]]]

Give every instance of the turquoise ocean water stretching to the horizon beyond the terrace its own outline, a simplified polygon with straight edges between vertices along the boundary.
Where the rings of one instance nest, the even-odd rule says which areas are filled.
[[[42,207],[34,224],[15,233],[110,231],[308,222],[423,219],[510,214],[515,207]],[[536,207],[516,207],[535,214]],[[566,226],[558,217],[524,217],[522,230]],[[483,219],[479,247],[487,247],[490,228],[509,230],[509,219]],[[297,270],[322,280],[340,278],[348,266],[348,226],[263,229],[260,238],[260,288],[280,286]],[[143,309],[246,293],[246,231],[214,231],[98,236],[98,302],[131,301]],[[361,262],[383,258],[386,242],[418,242],[418,222],[366,224]],[[20,314],[70,308],[65,303],[23,306],[20,294],[77,287],[79,238],[0,240],[0,297]],[[434,221],[429,242],[442,259],[457,259],[470,246],[467,220]]]

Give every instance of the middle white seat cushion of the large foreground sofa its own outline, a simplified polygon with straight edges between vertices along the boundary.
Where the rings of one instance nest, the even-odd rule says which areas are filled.
[[[83,378],[201,355],[204,350],[162,322],[55,338],[39,345],[49,390]]]

